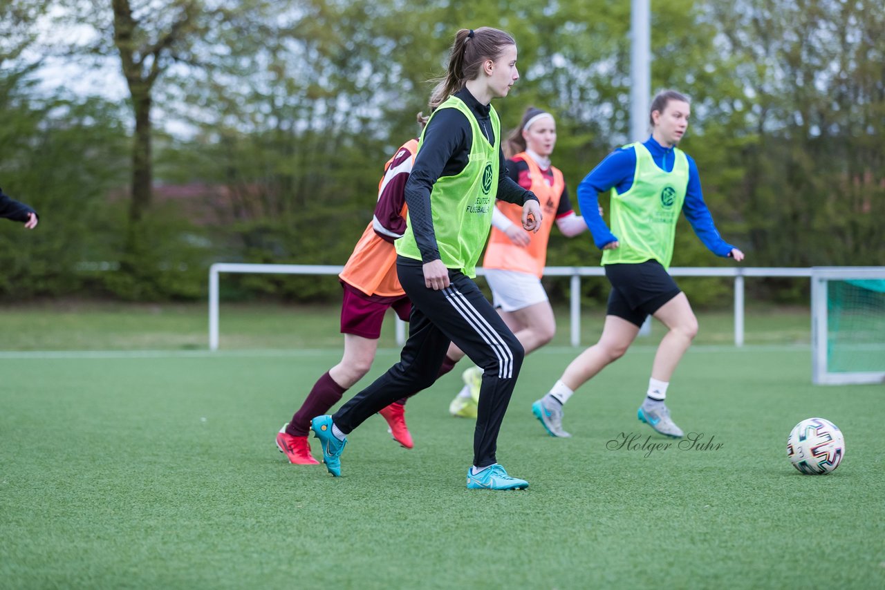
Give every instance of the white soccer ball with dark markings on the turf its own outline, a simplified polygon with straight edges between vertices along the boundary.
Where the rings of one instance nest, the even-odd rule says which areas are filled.
[[[806,475],[835,471],[845,456],[845,439],[838,426],[824,418],[808,418],[793,427],[787,439],[787,456]]]

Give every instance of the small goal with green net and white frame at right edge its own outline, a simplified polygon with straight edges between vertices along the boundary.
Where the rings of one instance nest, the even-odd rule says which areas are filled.
[[[885,266],[812,268],[812,379],[885,383]]]

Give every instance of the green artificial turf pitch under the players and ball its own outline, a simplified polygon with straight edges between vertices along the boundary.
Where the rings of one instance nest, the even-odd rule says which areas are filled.
[[[807,347],[697,346],[668,403],[712,445],[679,448],[635,418],[640,344],[553,439],[529,408],[576,352],[519,377],[498,460],[522,492],[465,487],[473,421],[447,407],[466,364],[409,402],[414,449],[370,418],[333,479],[273,437],[339,350],[0,356],[0,587],[885,586],[885,388],[812,386]],[[845,435],[828,476],[786,457],[814,416]]]

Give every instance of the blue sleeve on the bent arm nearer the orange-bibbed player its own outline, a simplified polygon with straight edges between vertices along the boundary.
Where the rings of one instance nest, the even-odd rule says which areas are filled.
[[[636,169],[636,152],[634,149],[616,149],[599,163],[578,185],[578,206],[581,215],[593,235],[596,248],[602,249],[605,244],[618,241],[618,237],[605,225],[599,215],[599,193],[617,188],[620,193],[633,184]],[[626,185],[626,188],[624,188]]]

